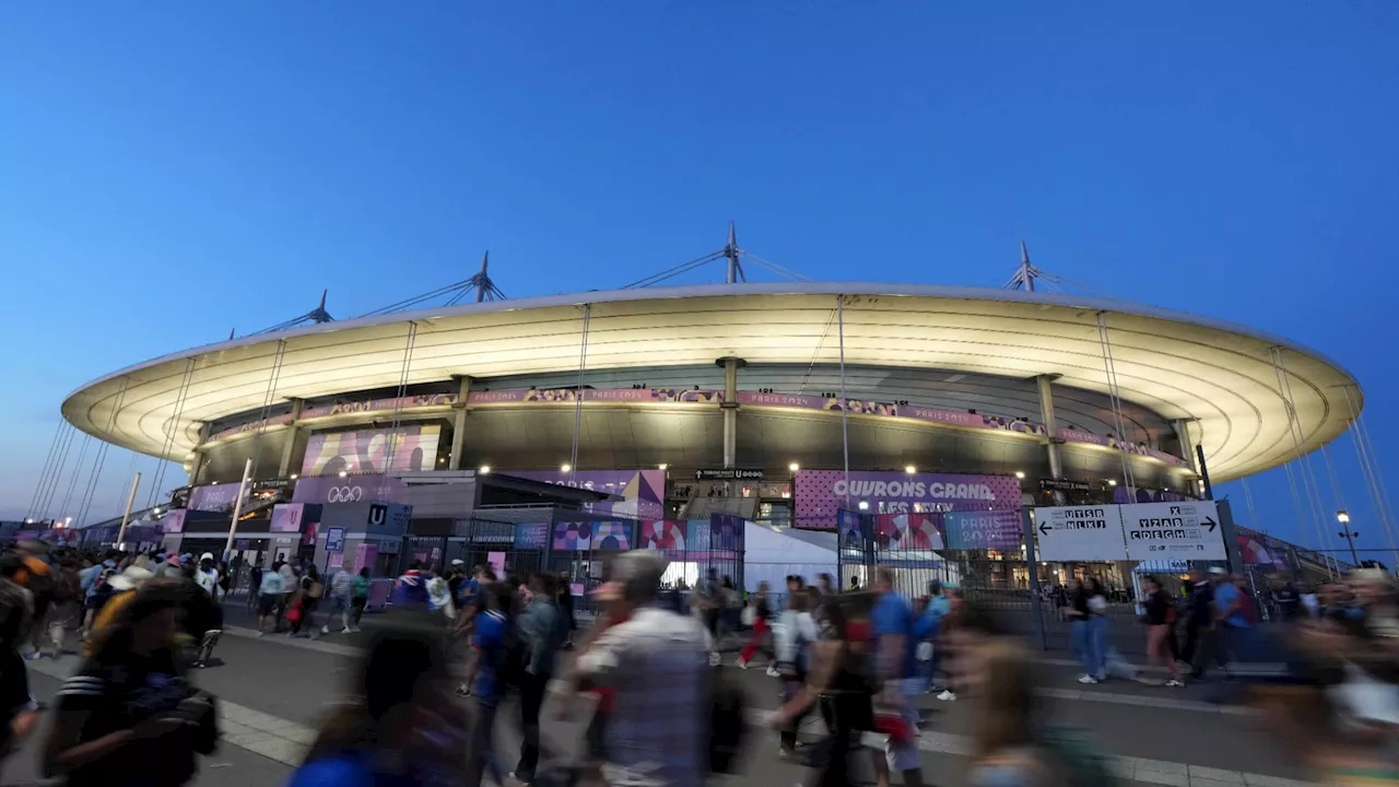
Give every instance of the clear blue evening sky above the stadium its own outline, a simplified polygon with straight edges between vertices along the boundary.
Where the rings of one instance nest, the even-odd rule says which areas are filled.
[[[999,286],[1024,238],[1067,279],[1288,336],[1361,379],[1399,473],[1391,0],[29,3],[3,35],[0,518],[106,371],[323,287],[361,314],[487,248],[511,295],[620,286],[730,218],[832,280]],[[1259,527],[1316,541],[1280,471],[1251,490]]]

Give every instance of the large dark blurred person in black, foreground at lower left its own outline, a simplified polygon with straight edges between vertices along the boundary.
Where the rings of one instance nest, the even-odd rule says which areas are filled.
[[[63,682],[43,746],[45,776],[69,787],[178,787],[218,742],[213,697],[180,667],[180,590],[151,580]]]

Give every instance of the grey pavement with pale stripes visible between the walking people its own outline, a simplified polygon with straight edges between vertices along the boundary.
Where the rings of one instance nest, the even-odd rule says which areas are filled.
[[[392,613],[388,613],[392,615]],[[302,760],[315,739],[315,728],[326,710],[348,692],[350,668],[358,648],[385,616],[369,615],[364,633],[339,632],[318,640],[288,639],[285,634],[257,637],[241,609],[229,606],[225,636],[214,664],[194,674],[200,688],[220,697],[221,745],[206,758],[199,787],[280,784]],[[732,657],[727,660],[732,662]],[[31,688],[36,699],[52,702],[63,676],[77,668],[78,658],[43,658],[29,662]],[[734,668],[736,669],[736,668]],[[1262,720],[1247,710],[1212,702],[1219,685],[1202,683],[1165,689],[1130,681],[1109,681],[1097,686],[1074,682],[1077,671],[1063,653],[1048,651],[1041,658],[1042,696],[1055,723],[1081,727],[1100,748],[1112,755],[1123,784],[1168,784],[1179,787],[1301,787],[1300,774],[1287,752],[1262,731]],[[778,706],[776,682],[761,668],[740,672],[753,706],[753,723]],[[919,735],[925,780],[935,786],[965,783],[964,767],[972,703],[943,703],[932,696],[925,709]],[[512,709],[501,711],[509,718]],[[544,727],[550,749],[562,756],[578,751],[581,721],[558,721],[546,711]],[[810,734],[818,737],[820,721]],[[498,725],[508,727],[508,725]],[[38,773],[42,731],[13,753],[0,770],[0,784],[43,784]],[[498,730],[502,752],[518,748],[512,728]],[[797,784],[800,766],[776,756],[775,734],[757,730],[750,738],[747,762],[740,776],[720,781],[732,784]],[[509,756],[504,758],[511,765]],[[898,777],[895,777],[898,781]]]

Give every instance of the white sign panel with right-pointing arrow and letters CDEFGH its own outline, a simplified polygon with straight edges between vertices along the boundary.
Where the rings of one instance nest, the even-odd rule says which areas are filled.
[[[1128,559],[1228,560],[1220,515],[1210,500],[1121,506]]]

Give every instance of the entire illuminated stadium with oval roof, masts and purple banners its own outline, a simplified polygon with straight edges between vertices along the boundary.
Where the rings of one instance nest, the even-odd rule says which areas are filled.
[[[978,288],[747,283],[732,237],[701,260],[723,258],[723,284],[505,300],[483,266],[452,298],[474,288],[474,302],[334,321],[322,301],[285,326],[113,371],[63,417],[185,464],[189,487],[133,520],[147,542],[217,552],[236,510],[250,557],[301,536],[319,559],[344,524],[340,549],[371,545],[390,570],[397,555],[480,555],[473,521],[540,506],[642,522],[646,535],[618,531],[635,545],[715,514],[800,538],[835,531],[841,508],[1196,499],[1206,476],[1325,445],[1363,402],[1314,350],[1037,291],[1028,259],[1018,288]],[[403,507],[397,531],[364,524],[372,503]]]

